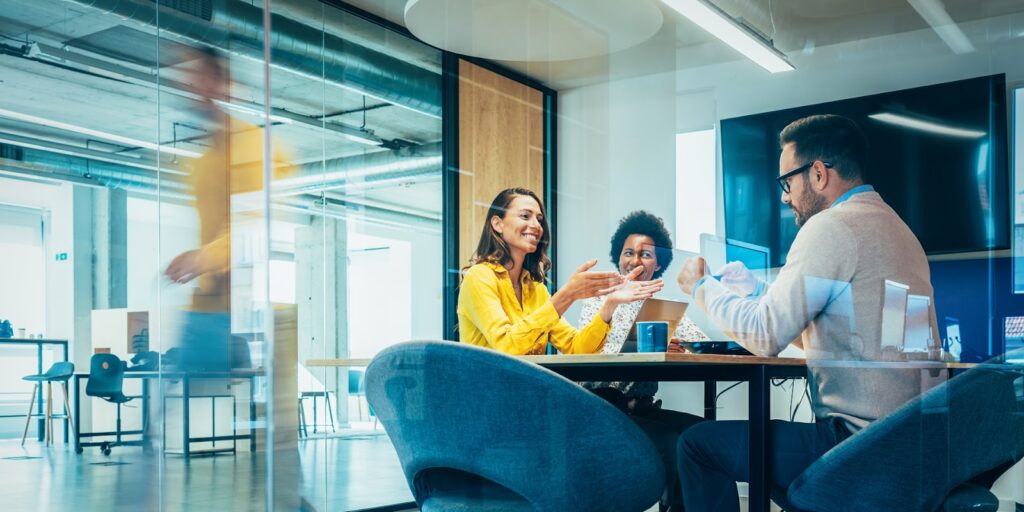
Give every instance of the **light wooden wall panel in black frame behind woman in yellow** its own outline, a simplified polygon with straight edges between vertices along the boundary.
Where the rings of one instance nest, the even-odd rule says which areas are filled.
[[[544,198],[544,94],[460,59],[459,169],[462,266],[498,193],[521,186]]]

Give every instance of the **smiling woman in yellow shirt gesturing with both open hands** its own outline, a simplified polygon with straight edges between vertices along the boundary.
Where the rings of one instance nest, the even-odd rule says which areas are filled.
[[[525,188],[502,190],[487,210],[480,242],[464,269],[459,292],[459,337],[522,355],[544,353],[550,341],[562,353],[593,353],[604,345],[618,304],[650,298],[660,281],[634,282],[628,275],[590,271],[597,260],[577,268],[554,295],[545,286],[551,260],[547,215],[541,200]],[[594,319],[575,330],[562,314],[577,300],[607,295]]]

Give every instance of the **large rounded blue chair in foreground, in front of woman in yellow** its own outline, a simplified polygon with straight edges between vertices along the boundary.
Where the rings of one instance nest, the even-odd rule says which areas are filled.
[[[410,342],[378,354],[366,380],[421,510],[642,511],[665,489],[629,418],[536,365]]]

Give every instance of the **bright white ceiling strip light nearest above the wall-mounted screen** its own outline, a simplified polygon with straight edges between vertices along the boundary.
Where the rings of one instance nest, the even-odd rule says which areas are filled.
[[[793,71],[785,54],[728,13],[705,0],[662,0],[723,43],[771,73]]]

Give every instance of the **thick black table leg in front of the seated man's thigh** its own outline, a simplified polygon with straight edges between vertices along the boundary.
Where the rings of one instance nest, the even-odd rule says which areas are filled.
[[[754,369],[748,385],[750,386],[750,399],[748,400],[750,415],[750,498],[748,505],[750,512],[768,512],[770,506],[769,485],[771,482],[768,474],[768,451],[771,450],[768,435],[768,425],[771,420],[771,401],[769,392],[771,385],[768,381],[767,367],[759,365]]]

